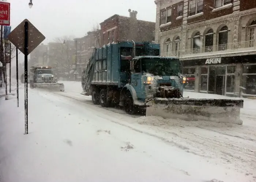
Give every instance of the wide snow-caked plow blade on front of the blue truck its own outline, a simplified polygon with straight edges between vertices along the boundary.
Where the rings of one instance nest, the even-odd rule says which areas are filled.
[[[154,98],[146,103],[146,116],[242,124],[240,109],[244,100]]]

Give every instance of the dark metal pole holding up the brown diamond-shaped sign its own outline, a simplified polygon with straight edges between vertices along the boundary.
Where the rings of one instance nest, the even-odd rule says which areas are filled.
[[[29,23],[27,21],[25,21],[25,41],[24,41],[24,53],[25,53],[25,57],[24,57],[24,71],[25,71],[25,134],[29,133],[29,127],[28,127],[28,104],[27,104],[27,55],[28,55],[28,35],[29,35]]]

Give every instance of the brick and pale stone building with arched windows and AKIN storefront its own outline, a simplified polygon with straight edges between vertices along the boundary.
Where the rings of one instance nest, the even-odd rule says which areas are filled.
[[[155,0],[155,4],[155,41],[161,44],[161,55],[182,60],[187,90],[256,95],[255,0]]]

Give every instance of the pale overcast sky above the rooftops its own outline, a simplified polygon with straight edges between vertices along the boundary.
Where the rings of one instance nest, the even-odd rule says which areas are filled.
[[[55,37],[82,37],[92,27],[118,14],[129,16],[128,9],[138,11],[137,19],[154,21],[154,0],[8,0],[11,3],[11,26],[14,29],[28,19],[46,37],[44,43]]]

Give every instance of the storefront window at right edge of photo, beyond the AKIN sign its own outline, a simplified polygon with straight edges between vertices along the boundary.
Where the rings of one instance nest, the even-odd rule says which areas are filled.
[[[244,94],[256,95],[256,65],[244,65],[242,78]]]

